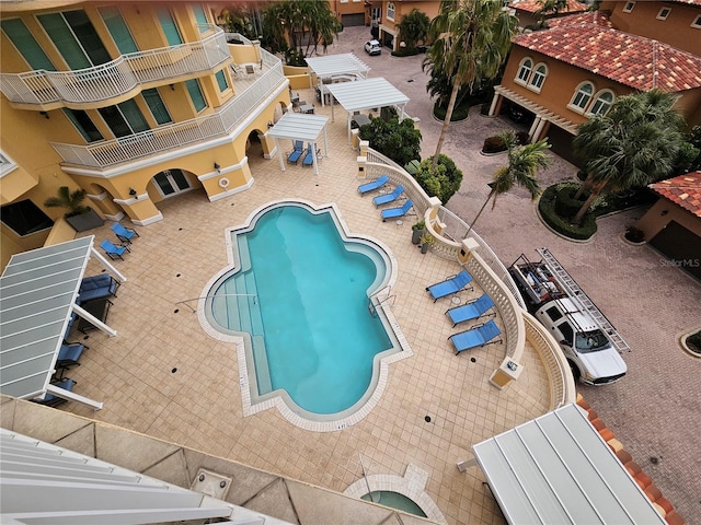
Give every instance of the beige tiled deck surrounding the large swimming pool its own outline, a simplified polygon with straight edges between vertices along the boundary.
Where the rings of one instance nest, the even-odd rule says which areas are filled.
[[[447,338],[459,327],[445,316],[450,300],[434,304],[425,288],[455,275],[457,262],[411,244],[415,218],[381,221],[371,197],[357,191],[357,153],[347,144],[345,118],[330,122],[327,132],[331,158],[319,176],[302,166],[281,172],[278,160],[263,159],[254,144],[251,189],[216,202],[197,189],[158,205],[163,220],[138,228],[131,253],[115,262],[128,279],[110,310],[118,335],[91,331],[82,365],[70,371],[76,390],[104,408],[70,402],[65,409],[337,492],[360,479],[358,453],[368,475],[402,476],[413,464],[428,472],[426,491],[448,523],[502,523],[479,468],[460,472],[456,463],[471,457],[472,444],[547,411],[544,368],[527,348],[522,375],[498,390],[487,380],[504,358],[503,345],[455,354]],[[188,306],[228,264],[225,230],[286,198],[335,202],[350,233],[381,241],[399,264],[392,313],[414,355],[390,364],[376,407],[342,431],[299,429],[275,408],[244,417],[235,349],[205,334]],[[111,238],[108,225],[90,233]],[[96,271],[93,259],[87,275]],[[475,287],[463,300],[479,293]]]

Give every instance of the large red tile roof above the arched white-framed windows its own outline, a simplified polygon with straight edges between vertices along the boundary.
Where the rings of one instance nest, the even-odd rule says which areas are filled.
[[[605,13],[550,19],[548,25],[517,36],[515,44],[635,90],[676,93],[701,86],[701,57],[614,30]]]

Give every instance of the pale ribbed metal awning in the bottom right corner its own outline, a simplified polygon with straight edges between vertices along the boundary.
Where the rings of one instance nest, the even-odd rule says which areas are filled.
[[[472,450],[510,524],[665,524],[574,404]]]

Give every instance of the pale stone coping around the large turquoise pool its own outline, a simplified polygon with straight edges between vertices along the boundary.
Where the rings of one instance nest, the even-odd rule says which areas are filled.
[[[384,329],[390,339],[397,341],[400,350],[394,351],[389,355],[382,355],[389,352],[386,350],[383,352],[375,355],[372,360],[372,377],[370,380],[370,385],[368,386],[368,390],[371,390],[371,394],[367,396],[365,394],[356,404],[352,407],[338,412],[342,415],[335,419],[325,419],[333,415],[314,415],[312,412],[303,411],[304,416],[300,415],[298,411],[295,411],[291,408],[291,405],[297,406],[289,394],[284,389],[276,389],[272,393],[265,394],[265,396],[269,396],[263,399],[254,400],[251,395],[251,384],[255,383],[255,371],[249,370],[249,355],[251,354],[251,336],[246,332],[230,332],[225,334],[219,328],[216,328],[209,322],[209,318],[206,314],[206,303],[208,300],[208,294],[210,293],[212,287],[217,281],[219,281],[225,275],[232,272],[238,268],[237,265],[240,266],[240,261],[238,260],[237,255],[234,254],[234,249],[231,243],[231,233],[235,230],[249,229],[252,226],[254,220],[260,218],[262,213],[271,208],[280,206],[280,205],[297,205],[307,207],[313,212],[322,212],[325,209],[331,208],[333,213],[331,213],[334,222],[336,222],[336,226],[338,229],[338,233],[342,238],[345,241],[361,241],[365,243],[374,244],[378,246],[384,255],[389,258],[389,278],[387,279],[387,283],[376,291],[370,298],[371,304],[375,311],[378,313],[378,317],[381,319]],[[338,430],[346,429],[353,424],[358,423],[365,417],[367,417],[372,409],[377,406],[382,394],[384,393],[384,388],[389,381],[389,364],[395,363],[403,359],[410,358],[414,354],[406,340],[406,337],[401,330],[399,322],[392,314],[390,310],[389,299],[391,295],[391,288],[397,282],[397,273],[398,273],[398,261],[394,254],[390,250],[390,248],[378,241],[377,238],[370,237],[368,235],[355,235],[350,234],[348,225],[346,224],[343,215],[341,214],[341,210],[335,205],[335,202],[329,202],[324,205],[314,205],[313,202],[304,199],[277,199],[272,200],[263,206],[260,206],[253,212],[251,212],[243,224],[237,226],[229,226],[225,229],[225,241],[226,241],[226,250],[229,264],[226,268],[218,271],[212,278],[207,282],[203,293],[200,294],[200,299],[197,304],[197,319],[199,320],[199,325],[204,329],[204,331],[217,339],[219,341],[232,342],[235,346],[237,350],[237,361],[239,363],[239,386],[241,388],[241,401],[243,405],[243,416],[252,416],[262,410],[267,410],[269,408],[277,408],[280,415],[287,419],[294,425],[309,430],[312,432],[334,432]],[[248,348],[246,348],[248,345]],[[367,396],[367,397],[366,397]],[[363,402],[361,402],[363,401]],[[357,408],[356,406],[360,404]],[[290,405],[291,404],[291,405]],[[303,410],[303,409],[301,409]],[[314,417],[319,419],[314,419]],[[323,419],[322,419],[323,418]]]

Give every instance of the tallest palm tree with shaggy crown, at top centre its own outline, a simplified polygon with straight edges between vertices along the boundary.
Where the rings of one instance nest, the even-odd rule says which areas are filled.
[[[450,75],[452,91],[443,122],[434,167],[443,148],[458,92],[475,80],[493,79],[506,59],[518,20],[503,9],[501,0],[441,0],[430,22],[434,44],[424,67],[437,67]]]

